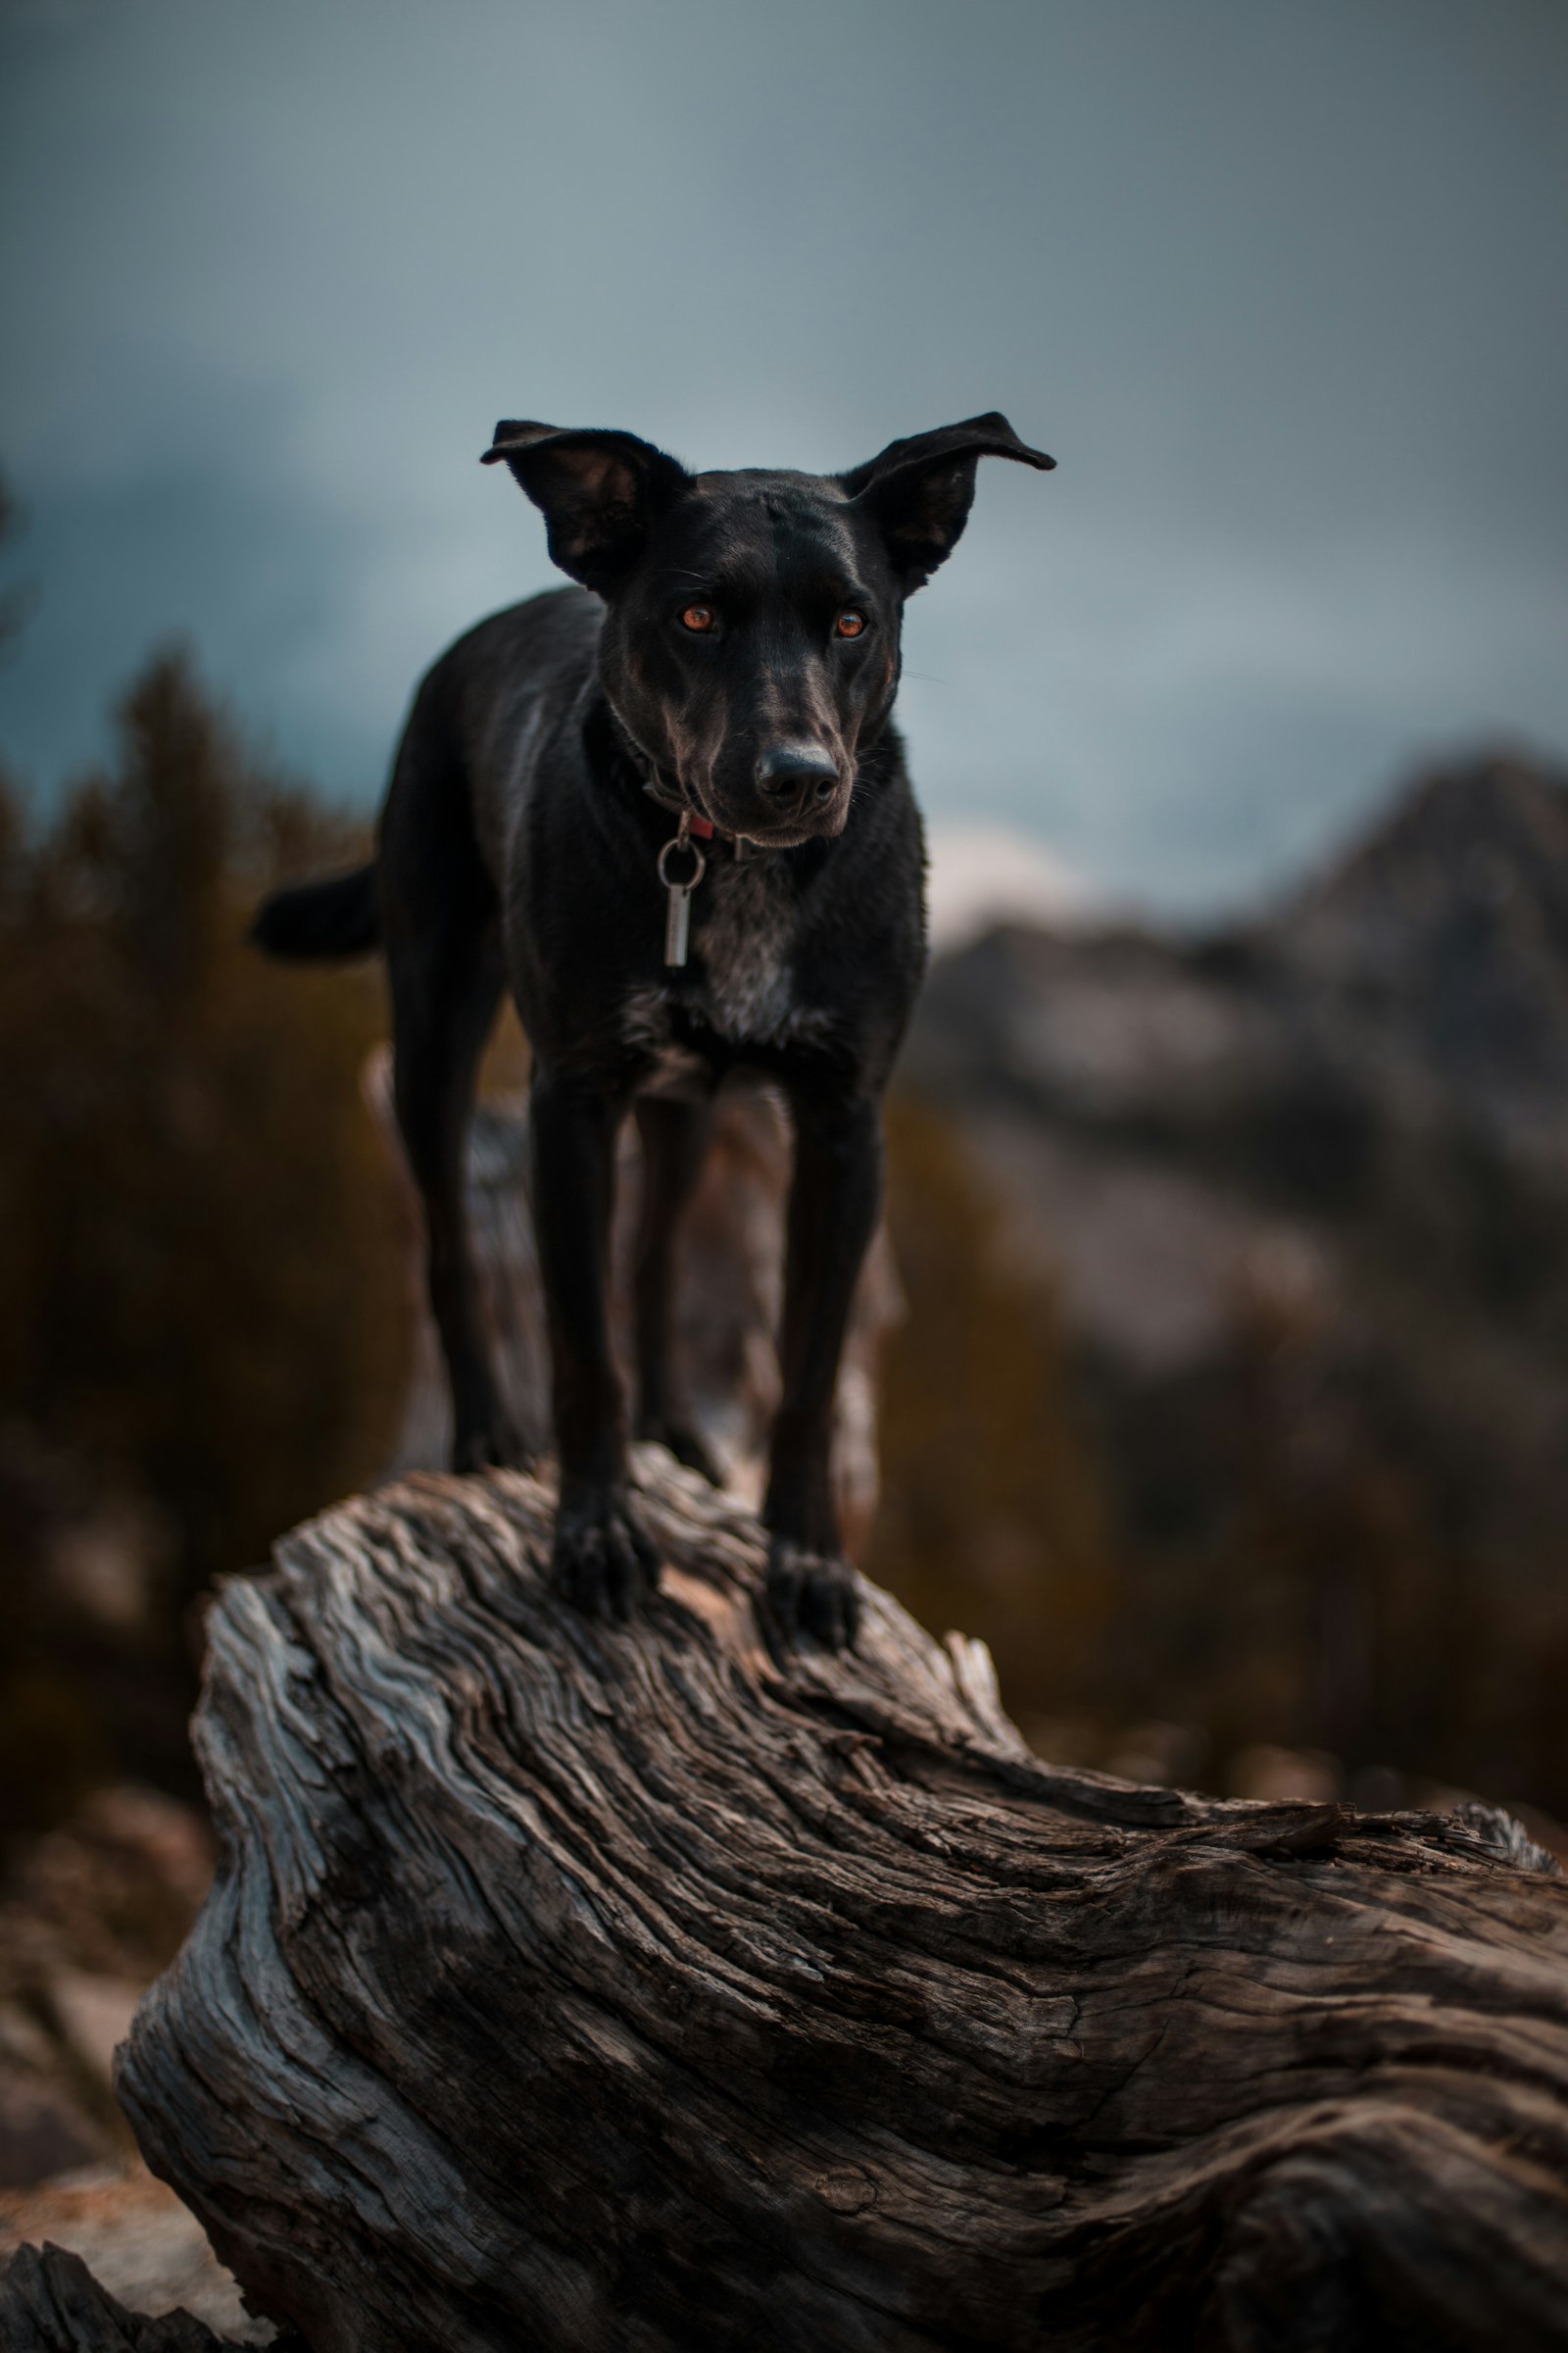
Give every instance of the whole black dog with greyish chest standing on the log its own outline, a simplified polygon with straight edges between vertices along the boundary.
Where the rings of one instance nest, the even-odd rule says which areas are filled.
[[[877,1106],[924,967],[922,826],[889,718],[903,602],[957,544],[980,456],[1053,464],[997,414],[844,475],[691,475],[632,433],[496,426],[484,461],[512,468],[581,586],[482,621],[435,664],[378,864],[256,918],[277,955],[386,953],[458,1471],[522,1454],[463,1221],[475,1068],[512,988],[534,1052],[555,1574],[590,1612],[628,1614],[656,1577],[607,1332],[616,1132],[635,1104],[637,1428],[708,1468],[668,1388],[670,1249],[705,1106],[745,1066],[795,1120],[769,1600],[785,1628],[853,1640],[827,1445],[882,1193]]]

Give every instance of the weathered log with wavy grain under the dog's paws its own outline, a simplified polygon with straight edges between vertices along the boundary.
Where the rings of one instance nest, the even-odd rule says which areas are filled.
[[[1568,2341],[1568,1887],[1505,1817],[1041,1765],[757,1525],[555,1600],[531,1478],[414,1478],[212,1617],[214,1894],[120,2097],[315,2353]]]

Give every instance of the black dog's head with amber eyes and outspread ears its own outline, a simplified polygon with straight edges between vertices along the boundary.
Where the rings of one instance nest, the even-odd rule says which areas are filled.
[[[642,751],[724,833],[839,833],[898,689],[905,598],[957,546],[976,464],[1053,466],[1006,416],[851,473],[686,473],[635,433],[496,426],[550,555],[607,605],[602,675]]]

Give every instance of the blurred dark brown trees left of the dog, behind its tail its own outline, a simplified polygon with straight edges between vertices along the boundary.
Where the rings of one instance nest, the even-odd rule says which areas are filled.
[[[381,976],[282,974],[244,944],[273,882],[355,852],[179,654],[52,824],[0,779],[0,1421],[38,1457],[0,1473],[0,1546],[16,1595],[110,1497],[162,1586],[108,1645],[141,1699],[63,1673],[49,1609],[0,1621],[12,1814],[56,1812],[89,1765],[179,1777],[195,1595],[390,1445],[407,1235],[360,1099]],[[73,1487],[63,1464],[89,1468]]]

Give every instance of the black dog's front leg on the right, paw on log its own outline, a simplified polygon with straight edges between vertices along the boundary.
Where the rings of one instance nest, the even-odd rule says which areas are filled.
[[[785,1631],[853,1642],[856,1581],[832,1501],[832,1407],[844,1325],[882,1207],[882,1122],[865,1096],[799,1092],[773,1426],[769,1602]]]

